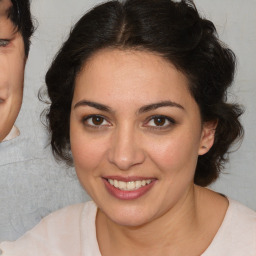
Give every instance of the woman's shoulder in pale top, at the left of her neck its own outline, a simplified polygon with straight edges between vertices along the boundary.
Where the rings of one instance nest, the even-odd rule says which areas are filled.
[[[96,209],[89,201],[53,212],[17,241],[1,243],[0,255],[80,255],[81,222],[84,216],[91,222]]]

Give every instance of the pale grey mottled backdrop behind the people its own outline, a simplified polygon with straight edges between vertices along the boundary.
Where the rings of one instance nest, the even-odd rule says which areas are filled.
[[[53,159],[40,122],[45,105],[37,94],[44,75],[71,26],[98,0],[32,0],[38,28],[25,74],[23,105],[16,122],[21,135],[0,144],[0,241],[13,240],[50,212],[89,200],[72,168]],[[236,53],[238,67],[229,100],[241,102],[245,137],[230,156],[214,190],[256,210],[256,0],[195,0]]]

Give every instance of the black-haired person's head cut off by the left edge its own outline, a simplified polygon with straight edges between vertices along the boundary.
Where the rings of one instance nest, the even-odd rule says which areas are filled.
[[[0,1],[0,142],[17,135],[12,127],[22,103],[24,69],[33,32],[28,0],[19,5],[16,1]]]

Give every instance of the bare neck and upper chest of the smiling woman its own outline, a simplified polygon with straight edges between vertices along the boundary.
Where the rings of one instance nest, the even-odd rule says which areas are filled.
[[[193,251],[199,255],[207,248],[222,222],[213,220],[214,226],[211,227],[208,219],[211,212],[202,207],[202,202],[210,196],[214,198],[215,193],[210,192],[212,195],[207,196],[205,193],[208,191],[191,186],[175,207],[138,227],[120,226],[99,211],[97,237],[103,256],[193,255]]]

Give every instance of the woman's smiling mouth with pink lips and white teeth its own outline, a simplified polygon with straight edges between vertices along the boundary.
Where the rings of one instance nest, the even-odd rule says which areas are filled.
[[[122,200],[137,199],[148,192],[155,184],[156,179],[134,178],[125,181],[121,178],[104,178],[107,191],[114,197]]]

